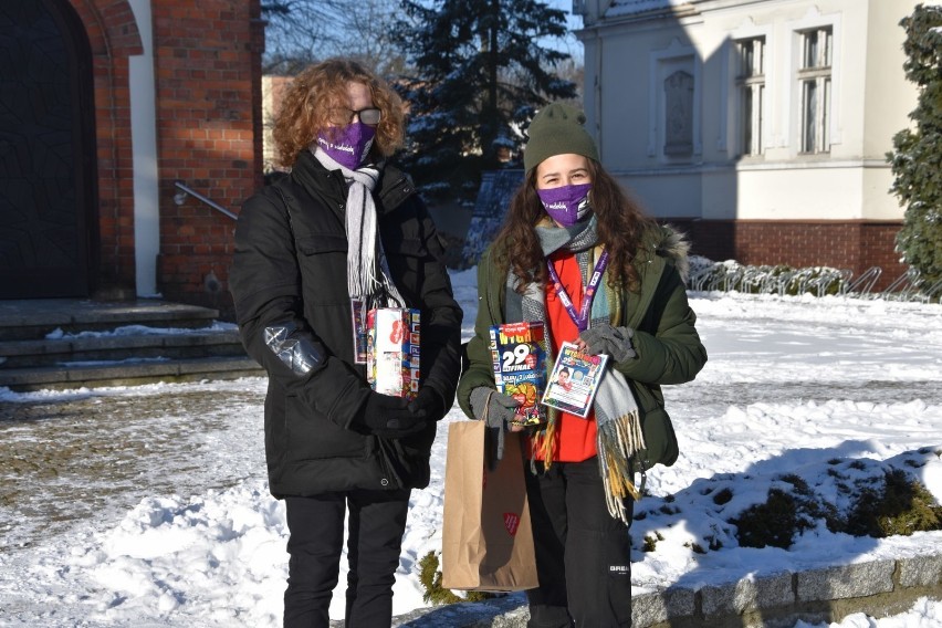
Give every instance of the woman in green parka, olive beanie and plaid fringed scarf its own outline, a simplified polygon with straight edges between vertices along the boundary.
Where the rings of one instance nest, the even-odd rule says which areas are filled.
[[[525,180],[478,264],[478,318],[458,387],[468,417],[519,430],[517,401],[495,390],[492,326],[542,321],[547,370],[565,342],[609,356],[587,417],[548,408],[545,423],[523,428],[534,628],[631,625],[636,478],[678,457],[661,386],[692,380],[706,362],[687,300],[688,243],[601,167],[584,124],[563,103],[531,123]]]

